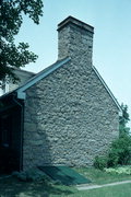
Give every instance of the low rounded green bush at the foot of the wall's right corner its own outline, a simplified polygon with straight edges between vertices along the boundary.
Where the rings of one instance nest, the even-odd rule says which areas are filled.
[[[99,170],[128,164],[131,164],[131,136],[128,135],[111,143],[107,158],[96,157],[94,162],[94,166]]]

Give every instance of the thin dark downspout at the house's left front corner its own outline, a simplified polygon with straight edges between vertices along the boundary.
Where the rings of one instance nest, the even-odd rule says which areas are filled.
[[[21,107],[21,132],[20,132],[20,171],[23,171],[23,130],[24,130],[24,103],[22,104],[15,99],[15,95],[13,96],[13,101]]]

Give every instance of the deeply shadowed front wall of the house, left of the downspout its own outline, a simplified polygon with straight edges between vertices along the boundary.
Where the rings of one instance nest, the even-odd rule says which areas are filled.
[[[13,106],[0,113],[0,174],[21,167],[21,111]]]

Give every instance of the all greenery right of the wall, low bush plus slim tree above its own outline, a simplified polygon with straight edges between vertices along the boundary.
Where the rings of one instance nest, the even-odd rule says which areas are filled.
[[[96,157],[94,166],[103,170],[104,167],[131,164],[131,136],[127,127],[130,120],[128,106],[121,104],[122,115],[119,117],[119,139],[111,143],[106,158]]]

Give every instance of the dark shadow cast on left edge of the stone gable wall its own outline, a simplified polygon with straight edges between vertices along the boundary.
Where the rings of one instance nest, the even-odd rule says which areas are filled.
[[[27,92],[24,116],[24,169],[37,165],[49,165],[51,143],[47,136],[46,121],[48,116],[43,108],[40,94],[32,89]],[[51,128],[50,128],[51,129]]]

